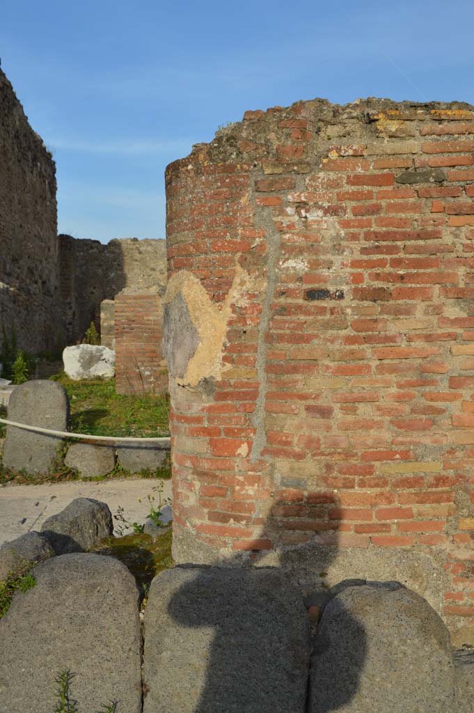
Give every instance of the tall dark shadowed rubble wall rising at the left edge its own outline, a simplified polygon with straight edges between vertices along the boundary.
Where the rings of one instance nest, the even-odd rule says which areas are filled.
[[[63,344],[56,167],[0,70],[0,329],[43,352]]]

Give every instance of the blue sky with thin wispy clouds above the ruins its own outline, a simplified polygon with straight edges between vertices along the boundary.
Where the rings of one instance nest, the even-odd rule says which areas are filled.
[[[474,103],[474,3],[16,0],[1,68],[53,151],[58,228],[165,237],[165,166],[246,109]]]

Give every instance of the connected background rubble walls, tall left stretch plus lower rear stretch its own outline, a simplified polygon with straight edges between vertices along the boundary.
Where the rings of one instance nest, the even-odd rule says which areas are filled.
[[[1,70],[0,244],[0,335],[14,328],[27,352],[81,342],[103,300],[166,284],[165,240],[57,235],[55,163]]]

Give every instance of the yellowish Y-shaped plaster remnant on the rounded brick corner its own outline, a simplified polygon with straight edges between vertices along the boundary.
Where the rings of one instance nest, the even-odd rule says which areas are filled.
[[[163,302],[168,304],[181,293],[200,339],[195,354],[187,363],[185,375],[179,379],[181,385],[197,386],[201,379],[210,377],[218,380],[223,371],[232,368],[222,361],[232,305],[243,307],[248,304],[247,293],[263,292],[266,284],[264,278],[251,279],[237,262],[235,277],[225,302],[215,304],[211,302],[200,280],[191,272],[181,270],[172,275]]]

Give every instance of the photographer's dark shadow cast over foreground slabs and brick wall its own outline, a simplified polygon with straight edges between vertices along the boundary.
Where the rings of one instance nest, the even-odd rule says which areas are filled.
[[[341,611],[346,636],[336,645],[351,652],[351,665],[342,677],[334,679],[325,660],[329,653],[334,659],[330,650],[335,642],[324,626],[311,642],[309,616],[297,588],[295,568],[299,550],[314,548],[314,581],[321,581],[320,573],[326,572],[336,557],[337,532],[330,529],[334,520],[331,522],[328,514],[337,506],[336,498],[318,506],[318,518],[324,511],[325,519],[314,523],[314,536],[304,545],[278,544],[281,535],[289,533],[288,523],[284,528],[284,521],[275,515],[281,513],[282,505],[287,503],[274,505],[258,538],[276,544],[278,566],[265,566],[265,551],[252,550],[246,555],[236,553],[225,566],[185,567],[185,582],[172,596],[168,615],[180,627],[214,630],[210,647],[202,652],[207,656],[205,680],[199,692],[193,690],[194,703],[189,701],[186,711],[330,713],[354,697],[366,652],[364,628],[349,612]],[[330,597],[331,593],[319,586],[313,600],[324,609]]]

